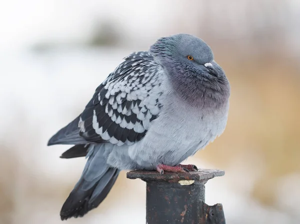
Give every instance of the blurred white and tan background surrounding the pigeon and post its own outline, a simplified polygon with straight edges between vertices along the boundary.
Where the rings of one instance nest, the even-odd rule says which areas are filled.
[[[222,169],[206,203],[228,224],[300,223],[298,0],[10,0],[0,6],[0,224],[59,224],[85,159],[47,140],[132,51],[206,41],[231,84],[226,130],[186,163]],[[135,217],[135,218],[132,218]],[[145,222],[145,184],[122,172],[76,224]]]

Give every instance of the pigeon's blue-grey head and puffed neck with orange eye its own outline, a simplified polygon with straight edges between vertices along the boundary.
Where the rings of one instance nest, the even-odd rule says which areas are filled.
[[[211,48],[200,38],[189,34],[162,37],[149,51],[167,72],[173,88],[186,100],[228,100],[230,87],[225,73],[213,60]]]

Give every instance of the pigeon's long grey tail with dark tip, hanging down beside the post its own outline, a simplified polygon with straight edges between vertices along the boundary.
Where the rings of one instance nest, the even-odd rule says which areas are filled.
[[[119,170],[108,167],[100,148],[89,146],[90,156],[83,173],[60,211],[61,220],[82,217],[96,208],[112,188]]]

